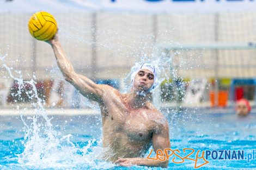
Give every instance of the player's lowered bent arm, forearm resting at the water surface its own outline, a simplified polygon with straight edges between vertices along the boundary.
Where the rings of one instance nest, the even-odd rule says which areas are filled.
[[[170,148],[170,139],[169,139],[169,127],[167,121],[164,123],[157,124],[157,127],[153,131],[153,148],[155,153],[158,149],[161,149],[163,156],[159,156],[161,160],[152,160],[147,158],[119,158],[115,163],[119,163],[120,166],[132,166],[132,165],[141,165],[141,166],[151,166],[151,167],[162,167],[167,168],[169,160],[166,159],[166,154],[164,149]]]

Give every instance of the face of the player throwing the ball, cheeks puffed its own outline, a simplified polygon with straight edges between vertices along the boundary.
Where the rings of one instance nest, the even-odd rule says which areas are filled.
[[[147,91],[153,83],[154,74],[147,69],[142,69],[135,75],[133,86],[135,90]]]

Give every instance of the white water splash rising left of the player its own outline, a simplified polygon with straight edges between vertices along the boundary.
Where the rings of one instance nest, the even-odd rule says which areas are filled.
[[[5,61],[8,54],[1,55],[0,60]],[[72,168],[76,166],[90,167],[94,169],[111,168],[115,166],[111,162],[101,161],[101,156],[105,149],[100,147],[101,141],[95,139],[87,141],[82,147],[79,147],[70,141],[71,134],[62,135],[54,130],[51,123],[53,117],[49,117],[44,108],[44,100],[42,100],[36,89],[35,75],[31,80],[23,80],[21,71],[14,71],[19,76],[13,75],[13,68],[3,64],[2,67],[9,73],[10,78],[13,78],[18,85],[17,93],[14,96],[21,97],[21,91],[25,84],[30,85],[31,91],[26,92],[26,95],[33,102],[34,115],[25,117],[25,112],[28,110],[20,110],[20,117],[25,125],[25,137],[23,145],[24,151],[17,154],[17,162],[21,167],[30,168]]]

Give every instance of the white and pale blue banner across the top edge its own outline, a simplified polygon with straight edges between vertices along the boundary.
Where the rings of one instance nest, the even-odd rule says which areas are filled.
[[[227,12],[255,11],[256,0],[1,0],[3,11]]]

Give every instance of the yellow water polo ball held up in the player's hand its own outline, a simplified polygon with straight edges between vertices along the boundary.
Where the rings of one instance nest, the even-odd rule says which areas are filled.
[[[29,33],[36,39],[47,41],[57,32],[57,22],[48,12],[35,12],[28,21]]]

